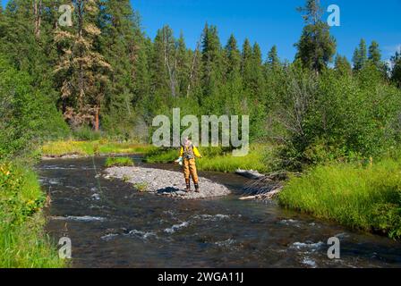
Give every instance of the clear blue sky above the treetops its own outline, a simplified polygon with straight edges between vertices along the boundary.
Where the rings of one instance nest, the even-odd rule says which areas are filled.
[[[6,0],[1,0],[3,4]],[[244,38],[257,41],[264,56],[277,45],[282,59],[293,60],[303,19],[295,8],[303,0],[131,0],[141,13],[141,24],[150,38],[164,24],[178,36],[183,31],[189,47],[194,48],[205,22],[217,25],[223,45],[231,33],[242,44]],[[401,0],[322,0],[322,5],[341,8],[341,26],[331,33],[337,38],[337,52],[351,58],[361,38],[380,43],[388,59],[401,46]],[[325,17],[327,18],[328,13]]]

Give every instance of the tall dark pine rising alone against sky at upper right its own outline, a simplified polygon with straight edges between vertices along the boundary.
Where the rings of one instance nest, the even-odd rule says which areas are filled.
[[[320,0],[307,0],[303,12],[305,27],[301,39],[295,46],[298,49],[296,59],[311,71],[320,72],[332,61],[336,53],[336,40],[330,36],[328,24],[321,20]]]

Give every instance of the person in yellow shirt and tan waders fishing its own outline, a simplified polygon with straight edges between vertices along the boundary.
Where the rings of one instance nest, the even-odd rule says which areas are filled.
[[[191,179],[192,177],[193,184],[195,185],[195,192],[199,193],[199,178],[198,172],[196,170],[196,161],[195,158],[201,158],[199,150],[197,147],[194,147],[192,141],[188,138],[185,138],[183,141],[183,145],[181,146],[180,157],[176,162],[183,165],[183,174],[185,176],[186,183],[186,192],[191,191]]]

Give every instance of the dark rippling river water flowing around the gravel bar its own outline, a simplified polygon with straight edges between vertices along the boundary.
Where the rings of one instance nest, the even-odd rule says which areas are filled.
[[[175,169],[162,164],[142,164]],[[104,158],[44,161],[40,181],[53,200],[47,232],[72,240],[73,267],[401,267],[401,243],[286,211],[240,201],[249,183],[200,172],[233,195],[177,201],[139,193],[100,174]],[[328,259],[328,238],[341,259]]]

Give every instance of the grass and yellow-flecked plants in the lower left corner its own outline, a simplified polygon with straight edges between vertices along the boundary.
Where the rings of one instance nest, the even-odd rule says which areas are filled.
[[[33,172],[0,164],[0,268],[64,266],[43,231],[45,201]]]

